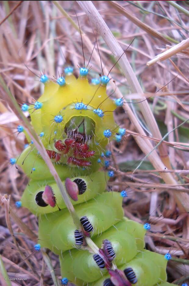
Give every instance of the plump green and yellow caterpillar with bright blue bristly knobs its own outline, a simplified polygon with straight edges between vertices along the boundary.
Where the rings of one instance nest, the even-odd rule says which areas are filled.
[[[99,53],[97,39],[94,49]],[[27,144],[9,162],[23,170],[29,184],[16,208],[27,208],[36,216],[39,229],[34,250],[47,248],[59,257],[62,285],[174,285],[167,282],[166,273],[171,254],[145,249],[151,221],[141,224],[125,217],[122,203],[127,191],[106,190],[116,172],[108,146],[126,135],[126,129],[114,119],[124,100],[107,91],[114,79],[103,69],[98,78],[90,78],[89,64],[84,55],[78,70],[68,65],[53,79],[41,74],[44,92],[32,104],[21,105],[74,206],[80,227],[76,227],[59,186],[21,123],[16,132],[25,134]],[[88,244],[90,238],[93,249]]]

